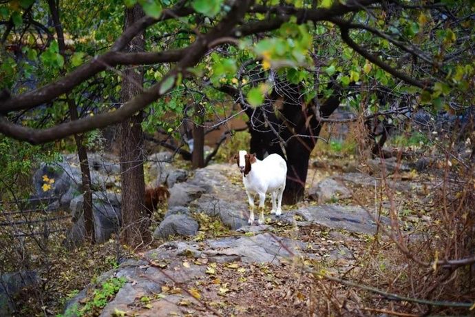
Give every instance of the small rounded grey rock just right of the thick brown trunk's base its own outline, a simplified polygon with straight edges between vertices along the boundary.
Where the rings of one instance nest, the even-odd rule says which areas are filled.
[[[172,214],[163,219],[154,232],[154,238],[169,236],[194,236],[198,232],[198,222],[186,214]]]

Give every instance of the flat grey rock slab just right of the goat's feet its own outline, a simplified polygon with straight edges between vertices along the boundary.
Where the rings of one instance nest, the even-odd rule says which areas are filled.
[[[303,221],[297,221],[297,225],[317,223],[332,229],[345,229],[349,232],[374,234],[377,224],[365,209],[357,206],[344,205],[321,205],[304,207],[294,212],[282,214],[282,221],[295,222],[295,216],[301,216]],[[375,215],[377,218],[377,215]],[[387,217],[381,217],[381,223],[390,223]]]

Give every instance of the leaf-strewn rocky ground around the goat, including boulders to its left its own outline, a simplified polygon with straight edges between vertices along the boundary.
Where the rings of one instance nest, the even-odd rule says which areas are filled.
[[[378,161],[372,164],[376,175],[381,165]],[[160,168],[154,172],[160,171],[157,182],[163,183],[170,178],[162,176]],[[321,289],[313,273],[343,276],[353,272],[367,253],[377,223],[390,223],[386,216],[392,206],[397,206],[406,228],[430,221],[427,207],[405,213],[409,207],[403,203],[403,197],[424,197],[430,181],[414,182],[412,167],[392,161],[384,170],[392,175],[387,180],[363,174],[356,165],[332,167],[317,161],[308,174],[310,200],[284,208],[279,218],[266,214],[262,226],[247,225],[246,194],[234,165],[213,164],[189,177],[173,170],[173,175],[182,177],[173,181],[169,209],[154,233],[163,243],[103,274],[70,300],[66,311],[74,313],[91,302],[105,281],[125,278],[123,287],[96,314],[315,313],[321,305],[317,295]],[[379,190],[383,181],[391,188],[385,194]],[[231,230],[213,238],[200,236],[200,214]]]

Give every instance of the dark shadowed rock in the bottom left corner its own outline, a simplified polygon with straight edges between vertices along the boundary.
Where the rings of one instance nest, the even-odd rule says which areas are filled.
[[[34,271],[1,273],[0,276],[0,316],[12,316],[15,309],[12,297],[16,296],[25,287],[34,287],[41,282]]]

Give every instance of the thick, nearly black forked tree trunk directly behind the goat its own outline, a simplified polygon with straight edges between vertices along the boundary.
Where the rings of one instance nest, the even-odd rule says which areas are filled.
[[[317,143],[321,124],[315,118],[313,105],[302,105],[297,85],[282,86],[285,93],[279,93],[279,90],[275,89],[271,96],[275,104],[263,105],[257,111],[246,110],[246,114],[249,118],[254,116],[254,123],[260,123],[255,126],[251,122],[248,123],[251,153],[255,153],[258,159],[264,159],[266,154],[273,153],[286,159],[287,181],[282,203],[293,205],[304,198],[308,161]],[[339,90],[336,90],[335,94],[321,105],[320,116],[330,116],[338,108],[340,98]],[[275,111],[275,108],[278,111]],[[272,126],[274,131],[269,126]],[[276,136],[275,132],[279,136]]]

